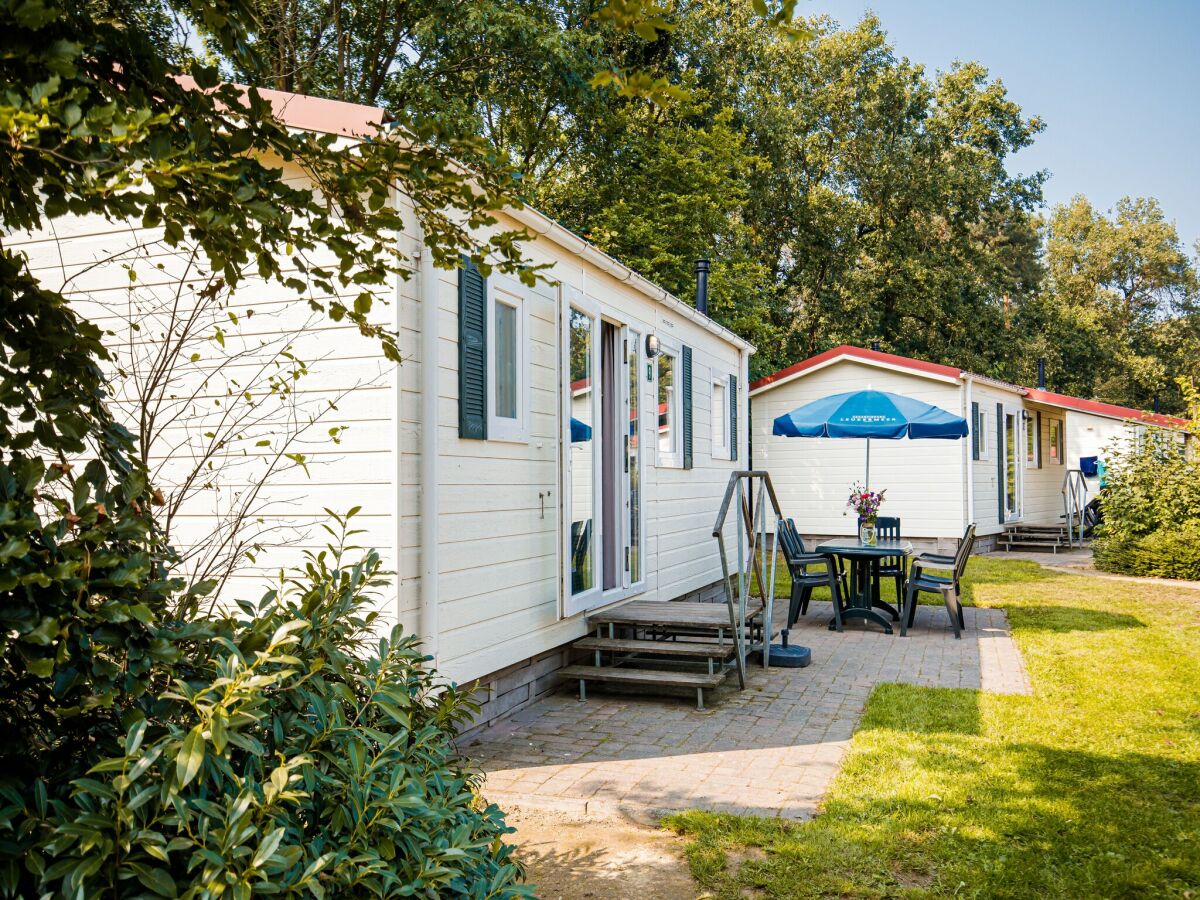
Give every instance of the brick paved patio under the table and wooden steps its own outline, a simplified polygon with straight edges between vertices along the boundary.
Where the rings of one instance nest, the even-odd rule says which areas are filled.
[[[776,612],[776,622],[786,614]],[[812,665],[751,666],[709,708],[690,697],[638,697],[575,684],[478,734],[464,752],[500,803],[581,815],[624,809],[658,815],[707,809],[803,818],[829,786],[871,689],[881,682],[1030,692],[1020,652],[1000,610],[967,608],[955,641],[943,607],[922,606],[908,637],[877,626],[828,631],[829,604],[814,602],[792,630]]]

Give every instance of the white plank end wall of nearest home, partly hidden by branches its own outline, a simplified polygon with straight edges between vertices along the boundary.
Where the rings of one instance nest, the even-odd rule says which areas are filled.
[[[286,178],[293,184],[304,182],[299,169],[287,169]],[[154,328],[140,332],[136,342],[130,341],[127,329],[121,334],[132,304],[162,302],[173,298],[182,283],[185,289],[180,296],[187,308],[190,289],[199,289],[205,282],[200,271],[188,268],[187,251],[168,247],[161,238],[161,229],[76,216],[55,220],[50,228],[38,234],[10,235],[6,241],[13,247],[19,245],[29,254],[32,271],[49,287],[64,289],[83,316],[101,328],[118,331],[110,343],[119,350],[119,362],[128,366],[134,359],[145,361],[164,340],[161,330]],[[131,281],[126,264],[134,269],[136,281]],[[355,293],[353,288],[344,292],[347,302]],[[314,295],[314,299],[328,301],[330,298]],[[397,302],[401,298],[394,286],[380,288],[378,299],[372,319],[395,329],[404,302]],[[223,323],[224,347],[214,343],[211,354],[205,352],[205,359],[185,365],[182,377],[174,385],[175,394],[186,396],[205,377],[214,374],[217,366],[208,361],[209,356],[242,354],[226,371],[234,378],[247,379],[262,365],[264,348],[281,335],[298,334],[292,352],[307,362],[308,374],[295,383],[295,397],[311,406],[326,397],[338,400],[337,409],[325,412],[320,424],[294,448],[305,454],[308,474],[294,469],[271,479],[262,492],[263,518],[278,530],[263,541],[257,560],[244,565],[229,581],[223,599],[258,600],[281,566],[300,564],[306,550],[320,550],[328,541],[320,528],[328,520],[324,508],[346,511],[361,506],[355,522],[365,533],[356,541],[377,548],[388,569],[403,570],[404,560],[397,547],[400,497],[395,474],[400,452],[395,422],[401,403],[397,367],[383,359],[376,341],[360,336],[354,326],[314,313],[305,300],[278,284],[247,278],[232,298],[228,311],[236,316],[238,324]],[[137,404],[130,388],[115,379],[113,390],[113,409],[119,416],[132,416]],[[223,407],[217,402],[226,401],[224,394],[224,383],[215,382],[209,389],[199,390],[196,407],[202,418],[188,428],[167,428],[166,440],[184,442],[190,432],[205,431],[218,420]],[[282,409],[278,416],[280,422],[286,419]],[[334,444],[329,428],[342,426],[341,443]],[[198,439],[191,442],[192,446],[199,444]],[[226,467],[222,490],[200,492],[185,506],[175,530],[181,550],[186,552],[210,534],[233,493],[254,484],[265,454],[265,449],[250,448],[245,456],[238,449],[217,457],[216,462]],[[161,460],[161,454],[151,458],[152,462]],[[182,458],[166,464],[160,484],[169,487],[188,467]],[[413,611],[401,608],[395,586],[380,595],[379,608],[384,613],[384,628],[397,620],[409,625],[413,622]]]

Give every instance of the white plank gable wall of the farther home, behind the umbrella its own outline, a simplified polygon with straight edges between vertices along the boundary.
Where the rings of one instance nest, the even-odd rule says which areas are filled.
[[[804,534],[851,534],[846,511],[854,481],[862,481],[866,442],[782,438],[774,420],[832,394],[883,390],[934,403],[960,415],[956,384],[842,361],[751,398],[755,468],[770,473],[784,515]],[[872,440],[871,488],[887,488],[883,515],[899,516],[908,538],[952,539],[962,533],[962,448],[956,440]]]

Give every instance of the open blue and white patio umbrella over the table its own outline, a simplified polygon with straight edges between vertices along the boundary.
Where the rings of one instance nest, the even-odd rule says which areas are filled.
[[[775,420],[773,434],[785,438],[865,438],[866,486],[871,485],[871,438],[967,436],[967,420],[941,407],[888,391],[851,391],[805,403]]]

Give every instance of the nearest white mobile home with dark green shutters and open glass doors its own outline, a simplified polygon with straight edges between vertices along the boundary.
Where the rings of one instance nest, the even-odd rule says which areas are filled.
[[[263,95],[284,121],[313,131],[361,134],[382,118],[373,108]],[[287,174],[302,179],[299,169]],[[412,212],[407,198],[396,203]],[[397,572],[385,618],[420,635],[445,677],[491,684],[485,721],[552,686],[589,611],[634,596],[696,595],[719,582],[712,528],[730,473],[748,458],[754,352],[536,211],[499,220],[498,228],[534,235],[523,252],[547,266],[536,287],[485,278],[469,264],[436,269],[407,216],[396,240],[412,277],[377,307],[400,335],[398,366],[355,329],[313,319],[277,286],[240,289],[228,310],[240,324],[224,326],[222,359],[240,354],[230,365],[248,371],[263,348],[286,340],[288,354],[307,361],[293,397],[324,403],[310,432],[320,439],[298,444],[307,474],[290,468],[263,486],[247,468],[197,492],[174,532],[199,542],[222,504],[262,488],[256,515],[292,538],[259,541],[226,586],[257,598],[281,565],[323,546],[324,509],[361,506],[358,542]],[[10,240],[22,241],[40,277],[62,282],[89,318],[115,331],[131,306],[152,305],[154,292],[175,295],[204,277],[136,223],[56,220],[53,230]],[[155,328],[144,324],[121,353],[149,355],[164,340]],[[210,377],[184,373],[176,395],[192,391],[192,408],[211,395],[223,409],[228,386],[209,385]],[[118,390],[119,407],[137,402]],[[220,415],[205,410],[204,421]],[[167,481],[190,464],[166,458],[188,439],[156,451]],[[214,458],[251,467],[264,454],[257,443]]]

